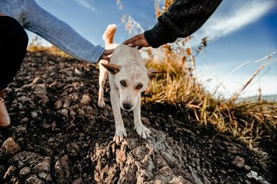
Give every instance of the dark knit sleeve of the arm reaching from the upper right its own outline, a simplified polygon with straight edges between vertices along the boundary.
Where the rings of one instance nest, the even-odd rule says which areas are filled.
[[[159,18],[158,23],[144,32],[153,48],[175,42],[178,37],[195,33],[215,12],[222,0],[175,0]]]

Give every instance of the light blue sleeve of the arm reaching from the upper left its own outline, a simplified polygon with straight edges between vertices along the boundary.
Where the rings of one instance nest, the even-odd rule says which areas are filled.
[[[28,0],[24,28],[43,37],[60,50],[76,59],[96,63],[105,48],[94,46],[71,26],[42,9],[34,0]]]

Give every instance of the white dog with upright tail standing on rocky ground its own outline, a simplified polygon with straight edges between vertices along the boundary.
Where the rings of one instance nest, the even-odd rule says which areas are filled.
[[[161,73],[161,71],[147,70],[137,48],[113,44],[114,33],[116,33],[116,25],[113,24],[107,27],[103,35],[105,48],[115,49],[109,64],[105,60],[99,62],[98,106],[105,106],[103,87],[109,71],[111,107],[116,122],[114,141],[119,144],[124,137],[127,137],[120,107],[125,111],[134,112],[134,129],[136,129],[139,136],[144,139],[150,136],[150,130],[141,122],[141,92],[148,86],[148,76],[153,75],[153,73]]]

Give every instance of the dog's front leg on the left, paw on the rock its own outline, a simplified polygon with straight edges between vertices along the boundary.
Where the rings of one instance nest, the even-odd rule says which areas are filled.
[[[113,109],[114,120],[116,122],[116,134],[114,135],[114,141],[116,141],[116,144],[120,144],[124,137],[127,137],[127,134],[121,117],[118,89],[111,88],[110,95],[111,107]]]

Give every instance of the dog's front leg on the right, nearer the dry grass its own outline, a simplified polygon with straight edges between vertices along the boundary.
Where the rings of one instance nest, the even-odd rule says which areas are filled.
[[[140,137],[146,139],[150,137],[151,131],[141,122],[141,95],[139,96],[136,107],[134,108],[134,129]]]

